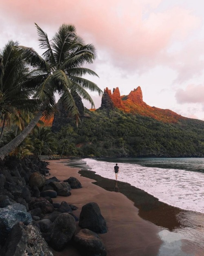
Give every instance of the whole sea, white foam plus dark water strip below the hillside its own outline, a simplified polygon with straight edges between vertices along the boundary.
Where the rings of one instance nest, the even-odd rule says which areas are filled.
[[[161,202],[204,213],[204,158],[83,159],[96,174],[140,188]]]

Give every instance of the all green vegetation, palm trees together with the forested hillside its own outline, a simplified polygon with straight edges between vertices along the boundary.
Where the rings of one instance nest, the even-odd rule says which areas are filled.
[[[9,41],[0,51],[0,159],[7,154],[81,157],[204,157],[204,122],[184,118],[165,123],[114,110],[89,111],[78,124],[74,95],[88,100],[87,89],[101,89],[83,76],[96,54],[73,25],[61,25],[53,39],[37,25],[42,57],[32,48]],[[53,133],[36,126],[56,110],[58,93],[64,110],[75,120]],[[169,116],[168,116],[169,117]],[[78,126],[76,126],[76,123]]]

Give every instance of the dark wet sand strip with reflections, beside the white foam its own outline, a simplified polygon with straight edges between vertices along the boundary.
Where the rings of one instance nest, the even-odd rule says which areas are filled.
[[[158,236],[163,243],[157,256],[204,255],[204,214],[162,203],[144,190],[103,178],[90,170],[81,170],[79,173],[96,180],[94,184],[106,190],[126,195],[139,209],[140,217],[161,227]]]

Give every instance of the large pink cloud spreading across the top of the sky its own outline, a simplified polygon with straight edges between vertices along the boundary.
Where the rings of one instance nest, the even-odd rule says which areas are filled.
[[[168,61],[164,56],[172,41],[186,39],[200,24],[191,10],[182,7],[159,11],[161,2],[7,0],[1,4],[0,21],[8,34],[24,34],[25,40],[31,40],[34,33],[36,38],[34,22],[48,34],[62,23],[73,23],[99,52],[109,54],[114,66],[141,73],[157,65],[161,58]]]

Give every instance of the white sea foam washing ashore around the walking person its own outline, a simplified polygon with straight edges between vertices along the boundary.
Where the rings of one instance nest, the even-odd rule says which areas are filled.
[[[96,174],[115,179],[115,163],[83,159]],[[204,173],[118,163],[118,181],[124,181],[178,208],[204,213]]]

